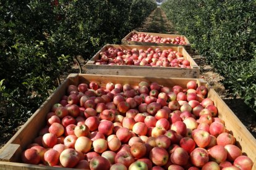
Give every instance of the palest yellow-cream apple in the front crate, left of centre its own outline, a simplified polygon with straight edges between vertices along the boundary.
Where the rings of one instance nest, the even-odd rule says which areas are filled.
[[[87,153],[91,150],[92,147],[92,140],[90,140],[88,137],[80,136],[75,141],[75,150],[82,153]]]

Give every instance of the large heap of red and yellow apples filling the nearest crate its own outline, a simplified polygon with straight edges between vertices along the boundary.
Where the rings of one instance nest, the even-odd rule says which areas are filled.
[[[196,81],[70,85],[23,163],[77,169],[252,169]]]

